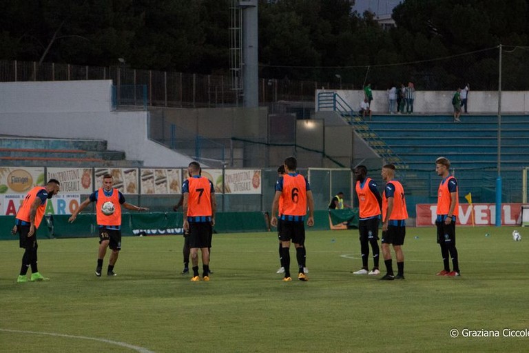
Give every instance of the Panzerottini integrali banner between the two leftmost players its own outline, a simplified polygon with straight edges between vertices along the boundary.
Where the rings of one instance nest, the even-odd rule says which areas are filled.
[[[46,181],[57,179],[61,194],[92,194],[92,168],[47,168]]]

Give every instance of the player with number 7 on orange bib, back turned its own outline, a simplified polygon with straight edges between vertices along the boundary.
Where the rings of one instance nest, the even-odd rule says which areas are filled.
[[[203,280],[209,281],[209,248],[215,225],[217,203],[213,183],[200,175],[200,164],[191,162],[187,167],[189,178],[182,185],[184,195],[184,232],[189,231],[189,248],[193,263],[191,281],[200,281],[198,276],[198,249],[202,254]]]

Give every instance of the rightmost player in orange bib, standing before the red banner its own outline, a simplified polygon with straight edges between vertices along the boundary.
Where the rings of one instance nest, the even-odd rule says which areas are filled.
[[[457,248],[455,248],[455,221],[459,214],[457,180],[450,175],[450,161],[445,157],[435,160],[435,172],[442,178],[437,191],[437,243],[441,246],[444,269],[437,276],[460,276]],[[450,271],[448,254],[452,258]]]

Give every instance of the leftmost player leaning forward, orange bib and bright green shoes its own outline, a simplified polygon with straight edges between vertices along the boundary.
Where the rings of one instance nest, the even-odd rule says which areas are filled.
[[[37,268],[37,229],[43,219],[46,203],[59,193],[60,185],[58,180],[50,179],[45,186],[35,186],[25,195],[17,212],[11,234],[19,234],[19,246],[24,249],[18,283],[48,280]],[[31,278],[28,279],[30,267]]]

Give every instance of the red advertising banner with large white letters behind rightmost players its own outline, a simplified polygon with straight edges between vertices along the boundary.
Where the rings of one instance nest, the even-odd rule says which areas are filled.
[[[501,225],[521,224],[522,203],[501,204]],[[437,204],[419,203],[415,205],[417,211],[417,227],[429,227],[435,225],[437,217]],[[457,225],[495,225],[496,204],[495,203],[468,203],[459,204],[459,216]]]

